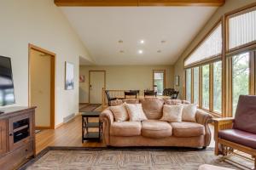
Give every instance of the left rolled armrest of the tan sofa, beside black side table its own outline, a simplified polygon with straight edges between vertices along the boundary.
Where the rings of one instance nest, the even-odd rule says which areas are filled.
[[[110,127],[113,124],[113,113],[108,108],[102,111],[100,115],[100,122],[103,123],[102,135],[103,141],[106,145],[109,145],[110,140]]]

